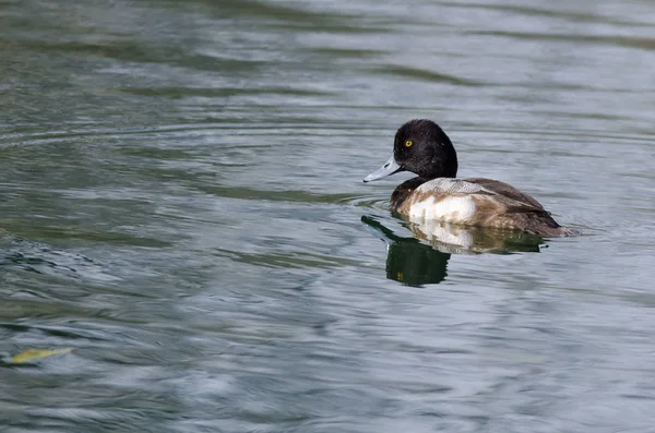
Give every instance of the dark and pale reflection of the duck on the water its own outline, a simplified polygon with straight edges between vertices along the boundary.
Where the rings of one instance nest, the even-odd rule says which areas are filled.
[[[408,286],[439,284],[448,275],[451,254],[539,252],[538,236],[480,227],[457,227],[434,220],[409,221],[413,237],[401,237],[372,216],[361,221],[386,242],[386,278]]]

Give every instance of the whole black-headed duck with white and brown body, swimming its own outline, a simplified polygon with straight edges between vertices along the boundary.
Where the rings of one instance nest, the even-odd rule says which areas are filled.
[[[391,209],[413,222],[517,230],[539,237],[577,234],[562,227],[531,195],[493,179],[457,178],[457,153],[441,127],[414,119],[396,132],[393,155],[364,182],[410,171],[391,195]]]

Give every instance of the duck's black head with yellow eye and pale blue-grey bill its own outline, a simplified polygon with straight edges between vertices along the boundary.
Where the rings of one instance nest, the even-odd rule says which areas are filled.
[[[420,178],[454,178],[457,154],[445,132],[431,120],[417,119],[403,124],[393,142],[393,156],[364,181],[382,179],[398,171],[412,171]]]

